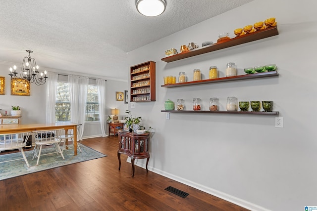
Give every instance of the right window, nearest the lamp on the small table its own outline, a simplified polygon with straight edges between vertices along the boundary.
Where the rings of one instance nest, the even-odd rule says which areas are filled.
[[[100,121],[97,85],[88,85],[85,121]]]

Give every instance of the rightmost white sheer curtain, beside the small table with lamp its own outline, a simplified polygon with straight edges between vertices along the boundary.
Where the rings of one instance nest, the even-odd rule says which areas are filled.
[[[106,81],[105,79],[96,79],[99,101],[99,118],[103,137],[106,137]]]

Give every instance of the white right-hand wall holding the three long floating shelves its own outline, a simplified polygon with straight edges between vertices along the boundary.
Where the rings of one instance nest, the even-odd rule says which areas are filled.
[[[136,103],[133,115],[156,133],[151,140],[149,169],[251,210],[304,210],[317,205],[316,35],[317,1],[255,0],[157,42],[129,52],[128,65],[156,61],[156,102]],[[168,48],[182,44],[216,42],[221,32],[275,17],[279,35],[171,63],[160,59]],[[189,79],[194,69],[208,77],[217,66],[235,62],[244,67],[274,63],[279,77],[249,81],[160,87],[163,76]],[[127,67],[128,69],[128,67]],[[183,98],[188,110],[192,99],[218,97],[225,110],[227,96],[239,101],[273,100],[274,111],[284,118],[275,128],[275,116],[230,114],[174,114],[165,119],[164,101]],[[144,166],[139,160],[138,165]]]

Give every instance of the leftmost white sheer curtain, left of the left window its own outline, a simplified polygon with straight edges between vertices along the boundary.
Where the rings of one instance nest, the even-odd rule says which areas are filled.
[[[55,99],[58,74],[47,73],[46,80],[46,123],[55,123]]]

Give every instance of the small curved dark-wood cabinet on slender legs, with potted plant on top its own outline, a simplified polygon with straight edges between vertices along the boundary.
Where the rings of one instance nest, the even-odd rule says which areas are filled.
[[[135,132],[118,131],[119,146],[118,146],[118,160],[119,170],[121,167],[121,154],[125,154],[131,158],[132,177],[134,176],[134,159],[147,159],[146,169],[148,170],[148,163],[150,159],[149,153],[149,139],[150,133],[137,134]]]

